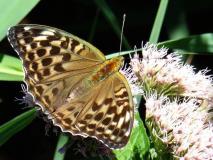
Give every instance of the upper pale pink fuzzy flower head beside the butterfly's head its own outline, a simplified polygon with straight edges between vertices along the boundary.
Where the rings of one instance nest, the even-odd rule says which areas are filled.
[[[213,91],[209,91],[213,88],[212,76],[206,75],[208,70],[195,73],[191,65],[183,64],[180,55],[167,51],[147,43],[142,48],[142,58],[136,53],[131,59],[129,70],[142,90],[167,96],[213,97]]]

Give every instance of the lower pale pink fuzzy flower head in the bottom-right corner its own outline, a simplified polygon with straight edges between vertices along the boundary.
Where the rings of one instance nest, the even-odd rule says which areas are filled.
[[[146,99],[147,119],[158,126],[159,139],[184,159],[213,157],[213,126],[197,99],[171,101],[168,97]],[[155,130],[156,131],[156,130]]]

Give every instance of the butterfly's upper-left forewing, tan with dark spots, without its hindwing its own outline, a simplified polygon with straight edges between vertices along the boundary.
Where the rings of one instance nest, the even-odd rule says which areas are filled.
[[[19,25],[9,29],[8,39],[23,60],[26,75],[35,82],[60,79],[60,72],[66,72],[64,77],[93,70],[105,61],[97,48],[56,28]]]

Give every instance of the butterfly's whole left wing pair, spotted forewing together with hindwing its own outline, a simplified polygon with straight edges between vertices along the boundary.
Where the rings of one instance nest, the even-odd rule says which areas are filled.
[[[43,110],[51,112],[71,90],[85,87],[82,80],[105,61],[91,44],[52,27],[14,26],[8,39],[22,59],[28,91]]]

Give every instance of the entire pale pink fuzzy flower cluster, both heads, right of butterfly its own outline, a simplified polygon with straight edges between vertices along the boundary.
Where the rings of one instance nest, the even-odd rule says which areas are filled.
[[[135,54],[130,65],[124,72],[131,75],[133,93],[136,88],[143,94],[146,118],[160,128],[158,137],[172,154],[184,160],[212,160],[213,79],[208,71],[195,73],[181,56],[153,44],[145,44],[141,58]]]

